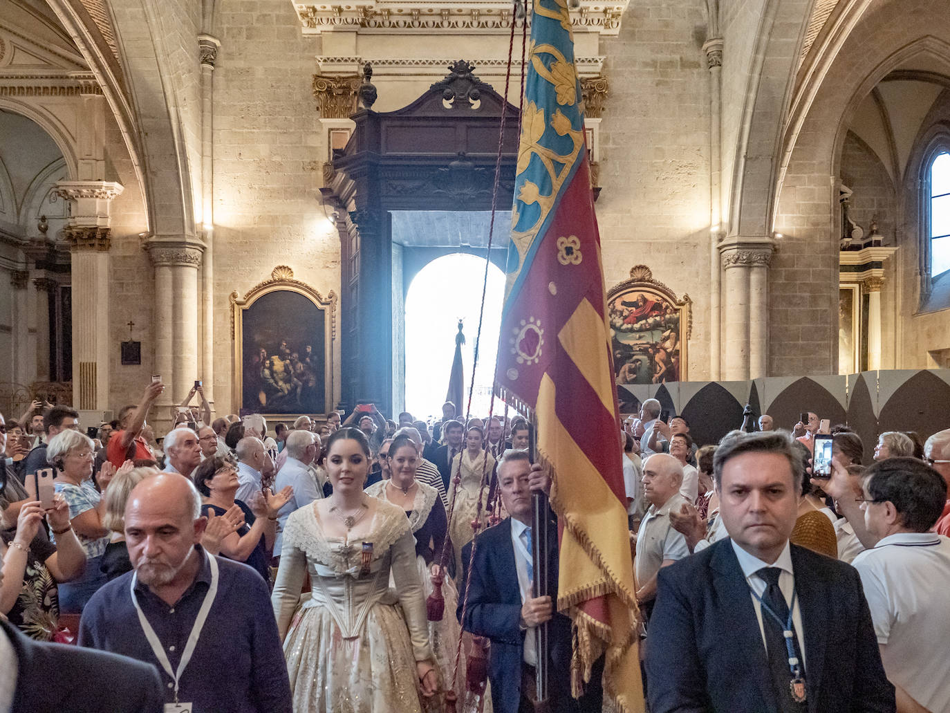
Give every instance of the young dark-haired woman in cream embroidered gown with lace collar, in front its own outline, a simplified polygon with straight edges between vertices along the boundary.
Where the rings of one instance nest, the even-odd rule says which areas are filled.
[[[327,453],[333,495],[288,518],[272,597],[294,708],[417,713],[439,681],[409,520],[362,491],[364,434],[337,431]]]

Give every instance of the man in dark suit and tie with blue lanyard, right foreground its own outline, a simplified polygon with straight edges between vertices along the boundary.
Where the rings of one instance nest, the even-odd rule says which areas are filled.
[[[660,570],[652,713],[896,710],[857,571],[788,543],[804,477],[788,435],[723,441],[713,477],[730,538]]]

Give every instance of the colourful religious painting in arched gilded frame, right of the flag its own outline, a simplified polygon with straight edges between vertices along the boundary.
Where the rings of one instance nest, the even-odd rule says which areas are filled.
[[[661,384],[687,377],[692,302],[678,299],[637,265],[607,295],[614,376],[618,384]]]

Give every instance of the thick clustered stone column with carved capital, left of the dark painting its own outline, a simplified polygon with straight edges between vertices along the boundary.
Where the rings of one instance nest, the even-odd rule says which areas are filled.
[[[148,254],[155,265],[155,369],[165,383],[158,422],[180,403],[198,378],[198,268],[196,244],[153,241]]]

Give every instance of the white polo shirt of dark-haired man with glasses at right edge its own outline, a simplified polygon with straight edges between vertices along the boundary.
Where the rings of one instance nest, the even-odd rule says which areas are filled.
[[[887,678],[927,710],[950,710],[950,539],[899,532],[851,564],[884,645]]]

